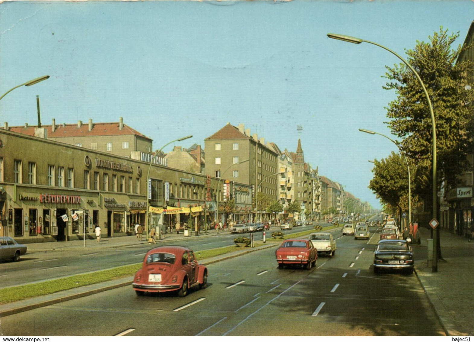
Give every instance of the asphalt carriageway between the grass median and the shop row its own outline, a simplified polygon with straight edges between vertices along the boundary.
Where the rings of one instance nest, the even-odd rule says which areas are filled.
[[[328,225],[327,223],[323,225]],[[310,229],[310,226],[294,227],[292,233]],[[273,231],[280,228],[272,227],[266,231],[267,239]],[[173,235],[168,233],[168,236]],[[175,234],[174,234],[175,235]],[[204,235],[190,237],[188,240],[178,242],[161,242],[160,245],[178,244],[191,248],[194,251],[207,250],[234,244],[234,238],[238,235],[249,234],[220,233],[216,235]],[[255,232],[255,240],[262,240],[263,233]],[[152,248],[149,244],[136,244],[119,248],[103,248],[89,241],[85,249],[49,250],[28,252],[18,262],[4,261],[0,263],[0,288],[28,284],[74,274],[98,271],[143,261],[146,252]],[[156,247],[154,245],[153,247]]]

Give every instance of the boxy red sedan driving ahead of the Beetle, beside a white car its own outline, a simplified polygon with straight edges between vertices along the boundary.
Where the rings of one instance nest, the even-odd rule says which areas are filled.
[[[278,268],[283,268],[284,265],[302,265],[306,269],[310,269],[312,266],[316,266],[318,260],[318,250],[308,239],[284,240],[275,255]]]

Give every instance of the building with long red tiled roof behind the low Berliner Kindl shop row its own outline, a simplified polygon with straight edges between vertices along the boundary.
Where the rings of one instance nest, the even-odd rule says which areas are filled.
[[[122,157],[130,157],[132,152],[150,153],[153,140],[141,134],[137,130],[123,123],[123,118],[118,122],[93,123],[89,119],[88,124],[77,121],[77,124],[56,125],[53,119],[52,125],[41,126],[46,131],[46,139],[63,142],[83,148],[112,153]],[[35,136],[37,126],[13,126],[5,129],[12,132]]]

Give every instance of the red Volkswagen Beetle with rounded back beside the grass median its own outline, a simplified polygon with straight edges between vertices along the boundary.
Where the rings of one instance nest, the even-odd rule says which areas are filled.
[[[192,250],[181,246],[163,246],[146,253],[132,286],[137,296],[149,292],[177,291],[178,296],[184,297],[195,285],[206,287],[207,277],[206,266],[196,261]]]

